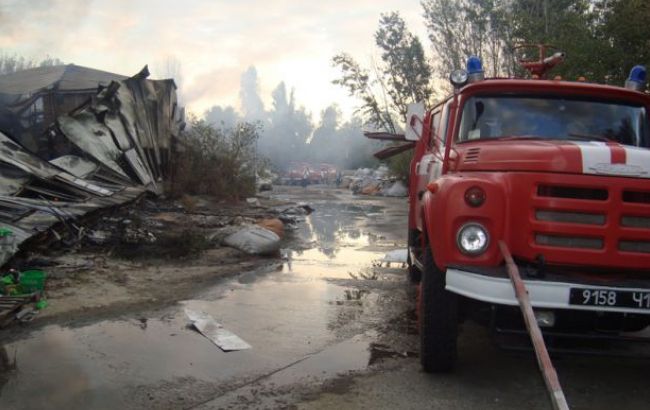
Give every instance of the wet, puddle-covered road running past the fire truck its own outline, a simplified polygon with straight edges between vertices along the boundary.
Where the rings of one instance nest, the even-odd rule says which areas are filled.
[[[419,369],[415,289],[401,264],[406,200],[320,187],[278,188],[315,212],[284,257],[189,298],[3,333],[3,409],[548,409],[530,354],[463,325],[452,375]],[[215,261],[218,264],[218,261]],[[182,272],[179,273],[181,275]],[[224,353],[188,328],[212,315],[252,349]],[[556,358],[574,409],[645,409],[648,362]]]

